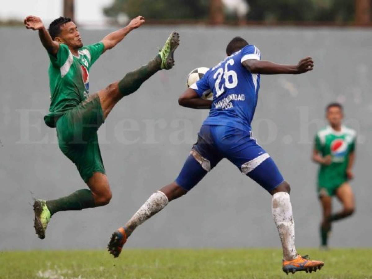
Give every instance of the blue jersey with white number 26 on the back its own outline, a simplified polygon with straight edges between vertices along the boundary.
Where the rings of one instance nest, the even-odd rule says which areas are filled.
[[[248,59],[261,59],[254,45],[247,45],[209,69],[190,87],[201,97],[213,92],[212,108],[203,125],[223,125],[251,130],[257,105],[260,75],[252,74],[241,63]]]

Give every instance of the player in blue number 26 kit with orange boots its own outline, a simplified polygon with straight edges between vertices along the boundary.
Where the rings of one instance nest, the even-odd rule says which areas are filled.
[[[320,269],[323,262],[297,254],[289,184],[251,132],[260,74],[302,74],[311,71],[314,62],[311,57],[302,59],[297,65],[261,61],[259,49],[240,37],[230,41],[226,53],[223,61],[209,69],[179,97],[181,106],[210,108],[179,176],[151,195],[125,226],[113,233],[108,250],[118,257],[137,226],[162,210],[169,201],[185,195],[226,158],[272,195],[272,213],[283,248],[283,271],[288,274]],[[210,90],[213,101],[202,99],[202,95]]]

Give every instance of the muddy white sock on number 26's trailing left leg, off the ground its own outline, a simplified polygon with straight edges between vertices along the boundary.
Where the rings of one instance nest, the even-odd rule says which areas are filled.
[[[140,207],[133,217],[125,224],[125,233],[129,237],[135,228],[140,226],[144,221],[158,213],[168,204],[167,196],[160,191],[155,192],[148,200]]]

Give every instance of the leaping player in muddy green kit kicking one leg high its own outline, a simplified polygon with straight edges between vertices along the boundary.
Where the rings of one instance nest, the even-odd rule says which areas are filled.
[[[106,205],[111,199],[97,130],[121,98],[137,91],[144,81],[160,69],[173,67],[173,53],[179,45],[179,35],[172,32],[164,47],[148,64],[93,95],[89,95],[89,69],[103,52],[116,46],[144,22],[144,17],[138,16],[128,26],[110,33],[102,41],[84,46],[76,25],[69,18],[55,19],[48,30],[39,17],[28,16],[24,20],[27,29],[38,30],[50,59],[51,105],[50,113],[44,117],[45,124],[56,128],[61,151],[76,165],[89,187],[67,197],[35,201],[34,227],[40,239],[44,239],[53,214]]]

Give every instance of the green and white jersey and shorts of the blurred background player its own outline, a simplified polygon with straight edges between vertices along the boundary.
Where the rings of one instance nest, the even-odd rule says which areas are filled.
[[[338,187],[347,181],[346,169],[349,155],[354,152],[356,132],[342,126],[337,132],[327,126],[315,136],[315,149],[324,157],[332,156],[330,165],[321,165],[318,173],[318,187]]]

